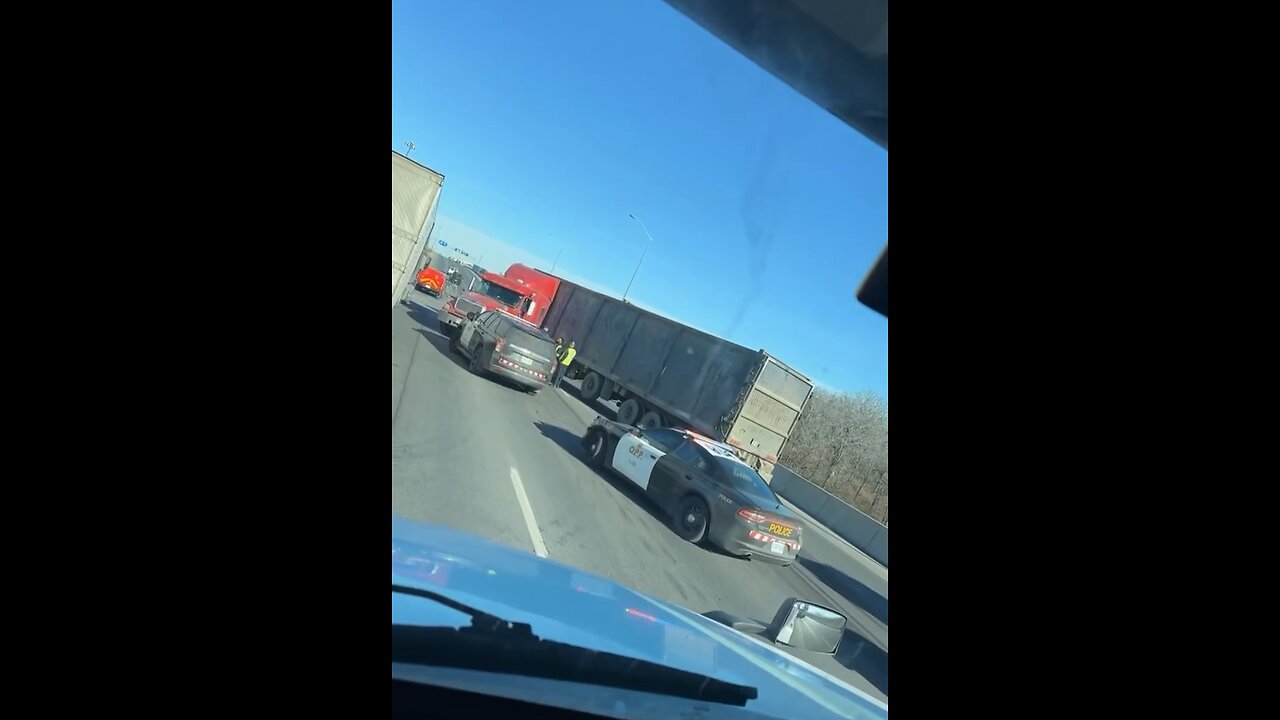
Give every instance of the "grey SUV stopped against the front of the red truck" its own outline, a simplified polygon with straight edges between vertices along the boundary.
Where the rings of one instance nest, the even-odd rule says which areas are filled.
[[[556,341],[538,325],[499,310],[471,315],[449,340],[449,350],[471,360],[477,375],[498,374],[538,392],[556,369]]]

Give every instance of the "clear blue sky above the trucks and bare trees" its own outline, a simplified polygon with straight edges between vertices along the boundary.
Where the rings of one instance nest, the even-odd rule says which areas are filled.
[[[888,152],[660,0],[392,4],[392,147],[445,176],[433,241],[532,261],[888,397],[854,292]]]

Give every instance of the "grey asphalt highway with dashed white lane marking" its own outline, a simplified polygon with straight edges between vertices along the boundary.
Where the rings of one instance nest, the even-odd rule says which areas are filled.
[[[840,652],[801,657],[888,700],[886,569],[808,527],[791,568],[680,539],[639,488],[582,461],[579,439],[611,409],[584,405],[568,387],[526,395],[470,374],[438,331],[442,301],[419,291],[407,300],[392,309],[393,514],[538,552],[696,612],[768,621],[788,597],[828,605],[849,616]]]

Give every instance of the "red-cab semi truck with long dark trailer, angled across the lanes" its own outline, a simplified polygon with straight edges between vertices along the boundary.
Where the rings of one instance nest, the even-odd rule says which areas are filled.
[[[804,374],[550,273],[515,264],[504,277],[525,288],[526,320],[576,343],[568,377],[582,380],[582,400],[621,402],[617,419],[627,425],[678,425],[727,442],[772,475],[813,392]]]

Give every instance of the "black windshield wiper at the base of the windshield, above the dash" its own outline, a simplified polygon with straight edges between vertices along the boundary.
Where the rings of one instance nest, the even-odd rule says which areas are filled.
[[[509,673],[645,693],[745,706],[758,691],[708,675],[568,643],[541,639],[526,623],[509,623],[447,596],[392,583],[392,592],[433,600],[471,616],[466,628],[392,624],[392,662]]]

